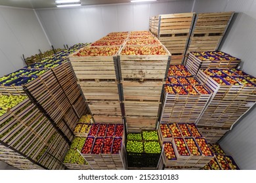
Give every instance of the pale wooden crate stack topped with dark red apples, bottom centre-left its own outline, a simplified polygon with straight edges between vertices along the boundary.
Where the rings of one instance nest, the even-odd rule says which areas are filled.
[[[81,149],[92,169],[126,169],[123,124],[93,124]]]

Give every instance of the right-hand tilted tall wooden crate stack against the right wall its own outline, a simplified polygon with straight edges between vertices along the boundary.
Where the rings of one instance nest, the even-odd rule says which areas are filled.
[[[186,56],[189,52],[218,50],[233,15],[234,12],[196,14]]]

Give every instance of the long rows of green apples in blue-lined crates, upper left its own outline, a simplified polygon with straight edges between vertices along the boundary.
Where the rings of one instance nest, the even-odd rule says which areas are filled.
[[[22,84],[28,84],[35,78],[49,69],[57,67],[62,62],[67,61],[67,56],[85,46],[85,44],[75,44],[67,50],[62,50],[57,54],[49,56],[48,58],[42,59],[41,62],[33,63],[30,66],[26,66],[18,71],[14,71],[9,75],[2,76],[0,78],[0,85],[3,86],[22,86]]]

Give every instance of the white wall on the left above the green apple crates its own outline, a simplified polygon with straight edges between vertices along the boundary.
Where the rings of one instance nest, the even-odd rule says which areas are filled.
[[[0,76],[24,67],[22,54],[31,56],[49,48],[32,9],[0,7]]]

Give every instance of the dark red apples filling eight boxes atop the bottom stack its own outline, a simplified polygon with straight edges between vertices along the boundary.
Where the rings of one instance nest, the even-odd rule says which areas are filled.
[[[92,124],[81,154],[119,154],[123,124]]]

